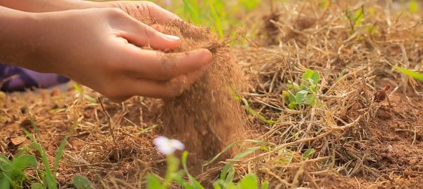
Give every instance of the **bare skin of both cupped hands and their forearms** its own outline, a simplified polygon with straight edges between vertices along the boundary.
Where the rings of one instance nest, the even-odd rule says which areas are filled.
[[[209,50],[158,51],[179,38],[133,17],[179,20],[146,1],[0,0],[0,62],[67,76],[114,102],[175,97],[202,76]]]

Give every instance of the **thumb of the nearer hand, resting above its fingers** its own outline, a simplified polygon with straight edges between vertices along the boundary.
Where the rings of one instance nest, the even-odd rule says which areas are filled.
[[[181,40],[178,36],[162,34],[138,20],[130,18],[130,27],[120,35],[137,46],[149,46],[155,50],[172,50],[178,48]]]

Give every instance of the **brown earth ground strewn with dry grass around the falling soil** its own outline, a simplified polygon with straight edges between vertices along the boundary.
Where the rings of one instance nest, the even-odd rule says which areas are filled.
[[[271,188],[423,188],[423,84],[392,67],[422,69],[422,15],[373,1],[352,3],[351,13],[345,6],[275,6],[258,17],[261,30],[249,48],[230,51],[249,80],[241,96],[264,120],[274,121],[244,112],[247,139],[269,144],[267,151],[237,162],[235,180],[251,170]],[[362,6],[365,17],[359,24],[347,19]],[[321,75],[319,104],[288,109],[280,94],[289,82],[300,83],[306,68]],[[390,103],[375,102],[386,85],[391,85]],[[63,188],[71,186],[74,174],[87,176],[98,188],[128,188],[144,186],[146,172],[165,172],[165,160],[152,144],[172,127],[164,124],[161,100],[134,97],[113,104],[101,99],[102,109],[98,99],[93,104],[83,96],[71,84],[67,91],[1,94],[0,153],[12,158],[30,144],[22,132],[35,132],[28,109],[50,162],[60,141],[71,135],[57,175]],[[76,130],[69,132],[74,123]],[[303,158],[307,149],[314,153]],[[225,165],[201,167],[195,154],[188,162],[207,186]]]

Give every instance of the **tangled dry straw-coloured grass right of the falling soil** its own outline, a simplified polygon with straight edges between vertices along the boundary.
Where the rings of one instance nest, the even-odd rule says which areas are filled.
[[[402,114],[403,109],[399,104],[387,108],[387,102],[375,103],[373,94],[389,84],[394,91],[406,91],[413,98],[409,99],[411,104],[421,99],[415,94],[422,94],[422,86],[391,65],[422,69],[422,17],[397,16],[389,5],[359,3],[348,6],[354,12],[364,8],[363,24],[352,25],[345,6],[340,3],[320,9],[315,3],[285,3],[279,12],[265,17],[274,18],[265,20],[264,25],[265,29],[272,26],[272,31],[261,32],[268,34],[263,44],[276,45],[237,50],[240,64],[254,85],[248,97],[250,105],[265,118],[277,121],[265,125],[254,119],[254,129],[263,130],[258,139],[275,146],[237,166],[254,167],[262,179],[271,181],[271,188],[318,188],[331,174],[356,176],[361,186],[409,175],[401,172],[401,166],[378,169],[383,162],[377,160],[383,158],[375,152],[385,146],[380,141],[375,144],[379,135],[373,125],[380,119],[380,109],[394,114]],[[370,7],[377,15],[367,11]],[[289,81],[299,83],[306,68],[321,73],[317,94],[321,105],[287,109],[279,95]],[[407,90],[410,86],[412,90]],[[405,99],[401,94],[392,95]],[[418,115],[411,120],[417,125],[423,121]],[[314,155],[305,160],[301,156],[310,148]],[[245,174],[242,170],[238,169],[238,174]]]

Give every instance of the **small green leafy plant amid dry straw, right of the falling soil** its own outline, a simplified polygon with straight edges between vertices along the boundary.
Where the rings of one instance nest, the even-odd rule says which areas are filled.
[[[289,109],[297,109],[301,105],[314,106],[319,83],[319,72],[307,69],[303,73],[300,85],[291,82],[286,86],[288,90],[282,92],[285,104]]]

